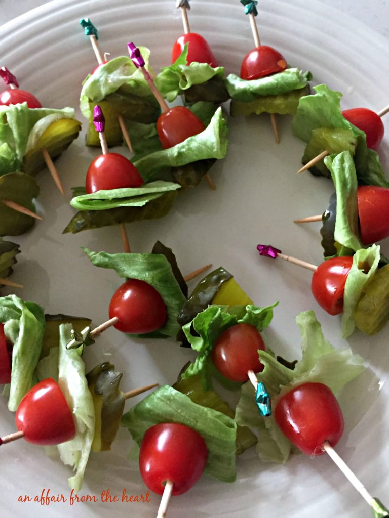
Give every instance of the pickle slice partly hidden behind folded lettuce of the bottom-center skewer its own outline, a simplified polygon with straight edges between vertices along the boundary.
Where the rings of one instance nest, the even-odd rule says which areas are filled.
[[[235,417],[235,412],[232,408],[226,401],[223,401],[216,392],[212,390],[205,391],[203,389],[200,376],[191,376],[186,380],[178,379],[174,383],[173,389],[186,394],[197,405],[217,410],[218,412],[228,415],[231,419]],[[237,455],[248,450],[248,448],[251,448],[256,443],[257,438],[249,428],[246,426],[237,427]]]

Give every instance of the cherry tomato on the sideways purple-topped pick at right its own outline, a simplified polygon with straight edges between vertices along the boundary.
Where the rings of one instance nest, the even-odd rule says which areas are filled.
[[[317,303],[330,315],[343,311],[344,285],[353,264],[350,255],[332,257],[313,273],[311,289]]]

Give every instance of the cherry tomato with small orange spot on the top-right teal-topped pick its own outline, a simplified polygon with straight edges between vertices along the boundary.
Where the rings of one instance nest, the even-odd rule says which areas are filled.
[[[276,72],[282,72],[285,68],[285,58],[279,51],[273,49],[273,47],[261,45],[244,56],[241,65],[241,78],[251,81]]]

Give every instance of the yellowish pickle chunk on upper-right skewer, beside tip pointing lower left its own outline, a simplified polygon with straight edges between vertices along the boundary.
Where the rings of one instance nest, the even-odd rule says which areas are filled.
[[[311,140],[305,148],[302,164],[308,164],[315,156],[328,151],[332,153],[340,153],[341,151],[350,151],[352,155],[355,153],[357,139],[351,130],[334,130],[333,128],[316,128],[312,130]],[[309,168],[314,176],[325,176],[331,178],[331,173],[327,169],[323,160],[317,162]]]

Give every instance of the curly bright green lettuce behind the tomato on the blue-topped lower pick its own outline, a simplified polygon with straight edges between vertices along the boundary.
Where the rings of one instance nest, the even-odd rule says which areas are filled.
[[[253,325],[261,332],[270,325],[273,308],[277,304],[266,308],[253,305],[231,307],[211,305],[195,316],[191,322],[183,326],[183,331],[192,349],[199,354],[195,363],[190,364],[183,373],[182,378],[200,375],[205,390],[210,390],[213,373],[210,358],[217,338],[225,330],[242,323]]]

